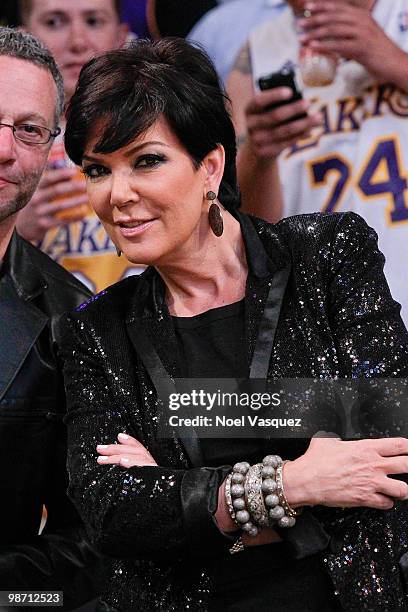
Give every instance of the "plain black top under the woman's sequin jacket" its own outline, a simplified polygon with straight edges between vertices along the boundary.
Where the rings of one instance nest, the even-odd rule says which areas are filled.
[[[248,377],[244,328],[245,300],[213,308],[194,317],[172,317],[172,321],[178,345],[180,370],[185,376],[217,379]],[[208,466],[234,464],[244,460],[254,464],[260,462],[263,456],[262,443],[256,438],[201,438],[200,444],[205,465]],[[248,576],[248,566],[252,570],[250,576]],[[278,568],[280,574],[274,576]],[[294,569],[302,576],[300,582],[303,588],[313,575],[314,590],[318,591],[320,598],[317,604],[327,604],[326,609],[331,610],[327,601],[327,593],[330,593],[327,587],[329,579],[324,577],[321,567],[316,564],[315,557],[308,557],[300,565],[294,565],[290,550],[285,543],[249,548],[245,554],[229,558],[228,563],[225,559],[214,563],[213,595],[209,610],[213,612],[222,609],[227,602],[235,604],[240,601],[242,610],[247,609],[249,603],[257,610],[262,610],[275,602],[277,611],[286,612],[292,609],[290,606],[294,603],[298,605],[299,598],[303,597],[296,590],[298,580],[291,578]],[[254,580],[257,586],[251,593]],[[264,582],[262,588],[260,580]]]

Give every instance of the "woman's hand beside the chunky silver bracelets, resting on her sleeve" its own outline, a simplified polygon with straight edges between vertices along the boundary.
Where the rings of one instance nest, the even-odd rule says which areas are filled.
[[[286,498],[292,506],[390,510],[408,497],[408,484],[388,477],[408,472],[407,455],[406,438],[313,438],[304,455],[284,466]]]

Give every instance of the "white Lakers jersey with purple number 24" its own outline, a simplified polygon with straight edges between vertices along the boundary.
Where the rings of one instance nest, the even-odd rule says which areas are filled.
[[[408,0],[377,0],[374,19],[408,52]],[[254,84],[298,64],[290,9],[250,36]],[[378,233],[385,273],[408,324],[408,96],[378,85],[354,61],[339,64],[335,81],[304,88],[324,127],[280,156],[285,215],[314,211],[359,213]]]

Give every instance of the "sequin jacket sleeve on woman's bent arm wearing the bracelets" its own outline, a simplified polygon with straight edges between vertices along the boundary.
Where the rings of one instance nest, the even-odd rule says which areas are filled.
[[[120,337],[114,329],[116,353]],[[167,467],[101,466],[97,444],[112,444],[127,432],[145,443],[138,420],[138,389],[128,364],[124,382],[114,371],[92,324],[75,315],[59,322],[60,355],[64,362],[68,415],[68,493],[81,514],[92,542],[112,557],[171,559],[217,557],[230,541],[216,527],[212,512],[223,469],[177,469],[182,462],[154,454]],[[119,388],[121,386],[121,388]],[[131,415],[133,413],[134,418]],[[147,444],[145,443],[147,446]],[[165,449],[165,444],[161,445]],[[151,450],[151,449],[149,449]],[[153,452],[151,450],[151,452]],[[185,513],[185,498],[193,495],[201,513]],[[200,540],[200,546],[197,546]]]

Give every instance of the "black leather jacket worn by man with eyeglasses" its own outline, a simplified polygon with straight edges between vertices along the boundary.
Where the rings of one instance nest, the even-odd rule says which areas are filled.
[[[89,295],[14,233],[0,273],[0,590],[63,590],[67,610],[94,596],[96,556],[66,495],[54,328]]]

